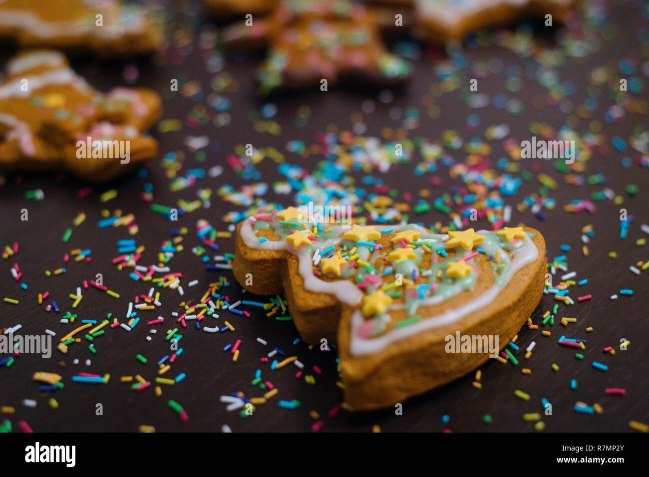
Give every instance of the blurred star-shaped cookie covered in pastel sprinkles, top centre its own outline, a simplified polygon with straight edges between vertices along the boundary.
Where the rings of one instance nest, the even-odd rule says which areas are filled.
[[[288,0],[266,17],[228,27],[230,47],[267,48],[257,72],[262,95],[275,90],[319,88],[339,81],[398,86],[410,75],[408,62],[391,55],[376,18],[346,0]]]

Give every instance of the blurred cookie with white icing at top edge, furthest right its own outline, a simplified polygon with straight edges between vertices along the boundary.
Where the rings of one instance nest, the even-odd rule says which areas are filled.
[[[533,14],[563,21],[574,0],[413,0],[417,34],[433,42],[461,40],[485,27]],[[552,25],[554,23],[550,23]]]

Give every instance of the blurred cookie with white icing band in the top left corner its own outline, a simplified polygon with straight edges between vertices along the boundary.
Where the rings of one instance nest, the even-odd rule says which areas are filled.
[[[99,56],[149,53],[162,41],[145,10],[119,0],[0,0],[0,36]]]

